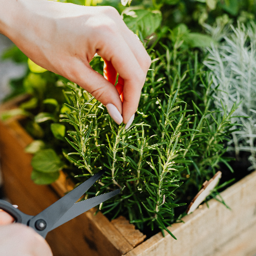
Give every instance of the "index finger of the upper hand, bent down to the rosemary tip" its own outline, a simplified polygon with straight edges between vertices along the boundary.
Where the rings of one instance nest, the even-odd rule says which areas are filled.
[[[127,123],[137,110],[146,74],[120,34],[114,40],[112,36],[106,39],[98,54],[103,59],[111,61],[124,79],[122,116],[123,122]]]

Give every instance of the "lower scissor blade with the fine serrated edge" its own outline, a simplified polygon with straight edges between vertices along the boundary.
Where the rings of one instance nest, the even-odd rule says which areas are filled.
[[[78,202],[74,204],[51,228],[61,226],[62,224],[68,222],[69,220],[75,218],[76,216],[90,210],[92,207],[99,205],[100,203],[110,199],[111,197],[120,193],[120,190],[114,190],[106,194],[98,195],[90,199]]]

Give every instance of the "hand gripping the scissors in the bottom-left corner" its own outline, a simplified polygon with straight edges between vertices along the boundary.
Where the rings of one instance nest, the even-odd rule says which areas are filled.
[[[1,256],[52,256],[48,243],[32,228],[13,223],[14,219],[0,210]]]

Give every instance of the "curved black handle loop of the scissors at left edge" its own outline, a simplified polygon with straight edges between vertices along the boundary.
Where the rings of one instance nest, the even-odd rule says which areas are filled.
[[[14,217],[16,223],[22,223],[22,224],[28,225],[29,219],[33,217],[25,213],[22,213],[17,208],[15,208],[12,204],[4,200],[0,200],[0,209],[4,210],[8,214],[10,214],[12,217]]]

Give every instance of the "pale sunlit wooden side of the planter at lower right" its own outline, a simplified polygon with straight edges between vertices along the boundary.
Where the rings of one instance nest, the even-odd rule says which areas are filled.
[[[211,200],[208,202],[210,208],[204,204],[185,216],[184,224],[169,227],[178,240],[167,232],[164,238],[159,232],[125,256],[253,255],[256,251],[256,171],[221,195],[231,211],[222,203]],[[245,241],[247,243],[243,245]],[[233,254],[235,248],[236,254]]]

